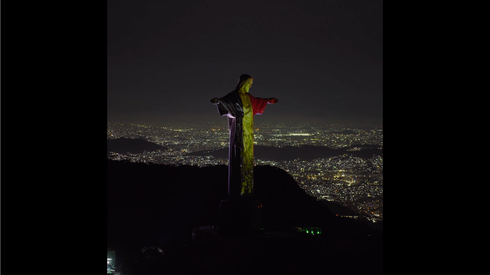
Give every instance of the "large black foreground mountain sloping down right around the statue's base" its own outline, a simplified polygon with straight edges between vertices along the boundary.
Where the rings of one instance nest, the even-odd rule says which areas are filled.
[[[299,274],[317,267],[335,274],[382,274],[381,231],[336,216],[288,173],[269,165],[254,168],[264,227],[319,227],[325,241],[316,236],[192,241],[193,227],[219,224],[227,180],[226,165],[107,160],[107,245],[116,250],[117,266],[133,274]]]

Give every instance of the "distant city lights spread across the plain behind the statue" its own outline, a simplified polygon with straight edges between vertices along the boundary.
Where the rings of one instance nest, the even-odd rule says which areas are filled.
[[[381,126],[358,127],[355,124],[317,125],[314,123],[254,125],[256,145],[326,146],[347,148],[342,155],[314,160],[271,161],[255,159],[257,165],[271,165],[288,172],[308,194],[320,201],[334,202],[352,210],[352,218],[362,216],[374,223],[383,220],[383,156],[369,158],[350,152],[369,148],[383,149]],[[107,138],[145,139],[166,148],[137,154],[108,152],[111,160],[130,160],[172,165],[228,164],[227,158],[192,156],[193,152],[214,151],[228,147],[229,132],[223,123],[201,124],[131,124],[107,123]],[[374,146],[378,145],[378,146]],[[202,155],[202,154],[201,154]]]

